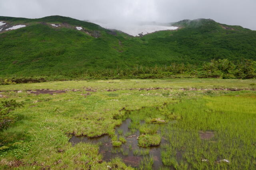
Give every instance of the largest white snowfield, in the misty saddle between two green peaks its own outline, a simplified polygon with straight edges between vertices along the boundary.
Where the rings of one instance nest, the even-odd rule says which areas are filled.
[[[128,33],[129,35],[132,35],[132,36],[138,36],[138,34],[140,33],[142,33],[142,35],[146,35],[148,33],[153,33],[156,31],[178,29],[178,27],[162,26],[162,25],[127,25],[124,27],[124,26],[113,26],[107,23],[96,23],[96,24],[107,29],[117,29],[117,30],[123,31],[124,33]]]

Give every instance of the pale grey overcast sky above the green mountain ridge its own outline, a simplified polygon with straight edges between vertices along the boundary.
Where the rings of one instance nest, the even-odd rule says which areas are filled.
[[[0,0],[0,16],[175,22],[211,18],[256,30],[256,0]]]

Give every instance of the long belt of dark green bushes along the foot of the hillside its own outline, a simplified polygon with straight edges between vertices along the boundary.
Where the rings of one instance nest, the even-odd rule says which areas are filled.
[[[66,80],[108,80],[108,79],[154,79],[154,78],[256,78],[256,62],[242,60],[236,62],[228,59],[212,60],[202,66],[172,63],[170,66],[138,66],[124,69],[77,70],[56,73],[47,77],[13,77],[0,78],[0,84],[36,83]]]

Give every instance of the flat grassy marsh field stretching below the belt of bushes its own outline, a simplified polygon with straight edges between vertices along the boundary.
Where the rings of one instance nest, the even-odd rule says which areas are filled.
[[[36,89],[65,91],[37,95]],[[0,169],[133,169],[121,157],[105,161],[102,143],[72,145],[69,140],[106,134],[110,145],[132,150],[126,140],[136,131],[142,146],[133,151],[141,156],[138,169],[255,169],[255,90],[255,79],[2,85],[0,94],[8,98],[0,101],[14,99],[23,107],[11,112],[15,123],[0,131]],[[115,132],[128,118],[128,132]],[[156,167],[148,146],[161,139]]]

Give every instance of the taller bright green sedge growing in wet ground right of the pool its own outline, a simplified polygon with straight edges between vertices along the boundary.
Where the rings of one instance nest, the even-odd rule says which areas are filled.
[[[195,169],[254,169],[255,103],[255,93],[247,92],[204,96],[174,105],[172,109],[182,119],[162,129],[170,141],[161,152],[164,164],[180,167],[181,163],[172,156],[180,151],[181,162]],[[199,131],[209,130],[214,131],[214,137],[200,139]],[[209,163],[201,159],[208,159]],[[231,163],[214,163],[221,159]]]

